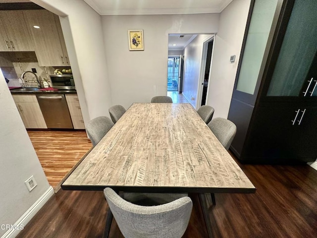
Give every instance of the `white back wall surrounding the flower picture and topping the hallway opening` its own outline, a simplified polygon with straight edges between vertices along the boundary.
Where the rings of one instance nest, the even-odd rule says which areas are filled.
[[[168,34],[214,33],[219,14],[102,16],[113,104],[128,108],[166,95]],[[144,51],[129,51],[128,30],[143,29]]]

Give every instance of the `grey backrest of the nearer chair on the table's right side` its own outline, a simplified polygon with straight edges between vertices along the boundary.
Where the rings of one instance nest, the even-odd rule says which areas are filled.
[[[237,126],[232,121],[224,118],[212,119],[208,123],[208,126],[223,147],[228,150],[234,136],[236,135]]]

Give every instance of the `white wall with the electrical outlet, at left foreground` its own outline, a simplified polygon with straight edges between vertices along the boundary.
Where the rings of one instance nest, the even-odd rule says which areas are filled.
[[[24,181],[32,175],[38,185],[29,192]],[[0,225],[13,225],[49,188],[0,71]]]

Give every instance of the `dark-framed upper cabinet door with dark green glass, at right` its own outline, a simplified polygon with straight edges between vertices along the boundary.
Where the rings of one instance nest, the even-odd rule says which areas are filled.
[[[261,101],[317,101],[317,1],[289,0]]]

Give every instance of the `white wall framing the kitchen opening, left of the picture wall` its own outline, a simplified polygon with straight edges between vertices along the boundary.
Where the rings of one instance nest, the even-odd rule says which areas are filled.
[[[83,0],[32,0],[59,15],[85,124],[112,106],[101,16]]]

